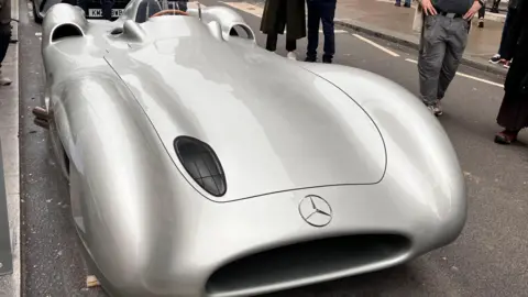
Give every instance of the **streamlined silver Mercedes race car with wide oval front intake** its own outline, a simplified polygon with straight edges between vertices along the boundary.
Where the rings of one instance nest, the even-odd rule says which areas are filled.
[[[466,220],[458,156],[411,92],[261,48],[228,7],[53,6],[45,106],[110,296],[251,296],[410,261]]]

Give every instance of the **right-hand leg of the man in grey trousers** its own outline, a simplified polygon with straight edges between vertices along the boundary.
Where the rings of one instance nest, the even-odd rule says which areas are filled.
[[[453,19],[449,33],[447,34],[447,51],[442,63],[442,69],[440,72],[440,79],[438,85],[437,98],[443,99],[449,85],[454,78],[459,65],[462,61],[462,55],[468,45],[469,35],[468,21],[463,19]]]

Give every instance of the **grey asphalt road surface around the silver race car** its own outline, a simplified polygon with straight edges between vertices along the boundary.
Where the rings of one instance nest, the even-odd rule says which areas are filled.
[[[32,123],[31,108],[42,105],[41,28],[29,15],[25,0],[21,0],[20,13],[22,287],[25,296],[103,296],[100,290],[85,289],[86,265],[69,218],[65,182],[51,155],[46,132]],[[260,18],[241,14],[263,46]],[[383,75],[418,94],[417,66],[407,61],[417,59],[415,52],[365,36],[391,54],[353,33],[337,34],[334,63]],[[285,55],[284,40],[278,48]],[[302,40],[299,58],[305,48]],[[460,72],[502,84],[471,68]],[[466,174],[470,200],[466,227],[453,244],[395,268],[267,296],[527,296],[528,147],[493,143],[503,94],[496,85],[458,76],[444,99],[444,116],[439,120]],[[520,140],[528,143],[528,133]]]

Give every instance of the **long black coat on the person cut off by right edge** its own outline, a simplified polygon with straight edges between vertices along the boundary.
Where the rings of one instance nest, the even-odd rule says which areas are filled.
[[[528,3],[521,1],[506,41],[506,46],[515,48],[515,55],[504,89],[506,92],[520,91],[524,99],[528,100],[528,18],[525,15],[528,15]]]

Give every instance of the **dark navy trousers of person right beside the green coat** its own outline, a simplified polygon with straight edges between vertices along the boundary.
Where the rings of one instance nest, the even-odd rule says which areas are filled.
[[[308,51],[306,56],[315,59],[319,45],[319,22],[322,22],[324,34],[323,59],[331,59],[336,54],[336,36],[333,18],[336,16],[336,0],[307,0],[308,4]]]

